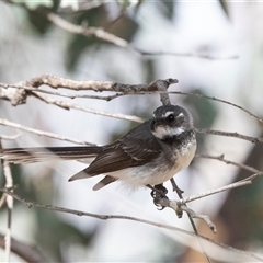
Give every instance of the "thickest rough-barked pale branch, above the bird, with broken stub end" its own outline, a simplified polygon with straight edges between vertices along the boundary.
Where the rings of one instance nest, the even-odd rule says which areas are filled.
[[[160,85],[168,88],[169,85],[178,83],[176,79],[165,79],[165,80],[157,80],[151,82],[150,84],[123,84],[114,81],[76,81],[70,79],[60,78],[52,75],[42,75],[39,77],[33,78],[27,81],[21,81],[15,84],[5,84],[0,83],[0,99],[11,101],[12,105],[20,105],[26,102],[27,95],[32,95],[34,92],[43,92],[49,93],[54,95],[67,96],[70,99],[75,98],[92,98],[92,99],[103,99],[110,101],[108,98],[100,98],[100,96],[90,96],[90,95],[68,95],[65,93],[50,92],[44,90],[37,90],[41,85],[48,85],[54,89],[64,88],[70,90],[92,90],[95,92],[101,91],[113,91],[113,92],[124,92],[124,93],[138,93],[141,91],[158,91]],[[35,94],[35,93],[34,93]],[[112,100],[112,99],[111,99]]]

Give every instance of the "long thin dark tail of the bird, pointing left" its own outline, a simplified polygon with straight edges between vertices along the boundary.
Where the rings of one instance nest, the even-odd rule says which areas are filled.
[[[34,163],[56,159],[80,160],[94,158],[100,152],[100,146],[9,148],[0,150],[0,159],[13,163]]]

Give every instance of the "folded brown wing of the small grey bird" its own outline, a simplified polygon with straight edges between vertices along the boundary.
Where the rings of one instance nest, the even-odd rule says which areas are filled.
[[[157,158],[161,146],[149,130],[149,122],[146,122],[115,142],[103,147],[95,160],[69,181],[144,165]]]

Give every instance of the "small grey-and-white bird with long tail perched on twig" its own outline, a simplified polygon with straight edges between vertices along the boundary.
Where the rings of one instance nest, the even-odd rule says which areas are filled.
[[[117,180],[132,188],[161,185],[188,167],[196,150],[191,114],[178,105],[158,107],[152,118],[105,146],[10,148],[0,158],[13,163],[33,163],[54,158],[94,158],[88,168],[69,181],[105,176],[93,186],[99,190]]]

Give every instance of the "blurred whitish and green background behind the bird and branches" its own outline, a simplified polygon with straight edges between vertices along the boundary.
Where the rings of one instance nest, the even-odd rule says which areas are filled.
[[[59,28],[46,19],[45,12],[57,13],[77,25],[103,27],[149,55]],[[216,96],[263,117],[263,3],[260,1],[3,0],[0,14],[0,82],[15,83],[43,73],[128,84],[176,78],[179,83],[171,91]],[[108,94],[112,93],[105,93]],[[171,100],[192,113],[198,128],[262,136],[262,124],[227,104],[191,95],[171,95]],[[148,118],[160,105],[160,98],[129,95],[111,102],[87,99],[70,102]],[[66,111],[34,98],[15,107],[0,101],[0,117],[99,145],[137,125],[77,110]],[[2,135],[18,133],[0,127]],[[28,133],[2,144],[3,147],[70,145]],[[198,134],[197,153],[224,153],[226,159],[263,170],[262,144]],[[186,216],[178,219],[171,209],[157,210],[147,188],[130,192],[116,183],[93,192],[98,179],[68,183],[83,167],[76,161],[12,165],[14,184],[19,185],[15,192],[42,204],[134,216],[192,231]],[[190,196],[249,175],[251,172],[218,160],[195,159],[175,180],[184,196]],[[0,184],[4,185],[3,174]],[[262,179],[256,179],[252,185],[192,202],[192,209],[208,215],[217,226],[214,235],[195,220],[199,233],[263,256],[262,184]],[[171,185],[165,186],[169,197],[176,199]],[[2,207],[0,233],[4,235],[5,229],[7,209]],[[12,237],[35,244],[50,262],[206,262],[204,252],[213,262],[251,261],[241,253],[176,231],[127,220],[101,221],[28,209],[18,202]],[[0,261],[3,259],[2,250]],[[22,262],[14,254],[11,261]]]

